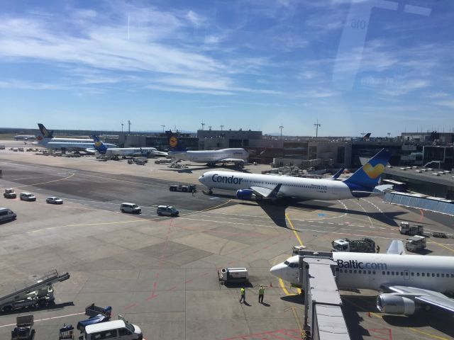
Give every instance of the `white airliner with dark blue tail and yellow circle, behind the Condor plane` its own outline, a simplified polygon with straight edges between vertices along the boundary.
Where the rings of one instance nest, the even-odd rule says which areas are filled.
[[[249,154],[245,149],[221,149],[206,151],[187,151],[172,131],[166,131],[169,142],[169,156],[177,159],[196,163],[214,165],[216,163],[233,163],[243,166],[247,163]]]

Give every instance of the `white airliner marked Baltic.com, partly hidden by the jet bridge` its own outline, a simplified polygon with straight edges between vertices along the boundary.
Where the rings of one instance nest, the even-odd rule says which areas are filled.
[[[411,315],[424,307],[437,306],[454,312],[454,256],[406,255],[402,241],[394,240],[386,254],[333,252],[339,289],[371,289],[377,309],[389,314]],[[277,264],[270,272],[299,284],[299,256]]]

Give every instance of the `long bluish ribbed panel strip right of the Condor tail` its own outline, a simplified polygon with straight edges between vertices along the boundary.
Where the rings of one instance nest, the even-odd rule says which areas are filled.
[[[412,197],[399,193],[385,193],[383,201],[385,203],[404,205],[405,207],[441,212],[442,214],[454,216],[454,204],[438,202],[428,198]]]

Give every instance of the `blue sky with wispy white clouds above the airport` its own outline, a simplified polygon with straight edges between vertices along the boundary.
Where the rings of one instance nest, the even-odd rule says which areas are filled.
[[[1,1],[7,128],[454,131],[454,2]]]

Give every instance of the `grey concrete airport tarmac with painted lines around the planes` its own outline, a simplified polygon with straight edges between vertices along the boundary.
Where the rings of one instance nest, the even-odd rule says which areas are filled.
[[[401,220],[427,231],[453,231],[452,217],[407,210],[380,198],[295,205],[236,200],[233,192],[201,192],[207,168],[175,171],[165,164],[99,162],[94,157],[51,157],[0,150],[1,189],[34,193],[36,202],[6,200],[18,219],[0,225],[0,285],[4,288],[52,269],[71,278],[56,283],[55,305],[0,313],[0,339],[9,339],[16,316],[33,314],[36,340],[58,339],[58,329],[86,319],[84,308],[111,305],[113,319],[137,324],[144,339],[301,339],[302,299],[270,267],[292,246],[330,250],[331,241],[372,237],[386,249]],[[17,142],[18,143],[18,142]],[[19,143],[18,143],[19,145]],[[247,166],[260,173],[269,166]],[[172,183],[197,183],[198,192],[170,192]],[[45,203],[60,196],[63,205]],[[141,215],[119,211],[137,203]],[[159,217],[157,205],[179,209]],[[452,256],[454,239],[429,239],[427,256]],[[247,304],[238,286],[222,285],[218,270],[247,267]],[[258,303],[258,287],[265,300]],[[377,312],[377,292],[341,292],[352,339],[454,339],[452,316],[434,311],[413,317]],[[78,333],[78,332],[77,332]]]

